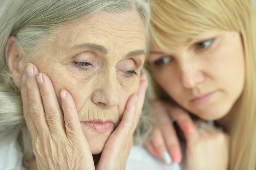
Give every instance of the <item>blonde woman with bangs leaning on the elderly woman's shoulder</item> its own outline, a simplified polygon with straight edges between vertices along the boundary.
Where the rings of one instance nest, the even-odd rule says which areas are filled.
[[[252,0],[155,1],[146,64],[160,101],[145,143],[155,157],[182,159],[173,120],[186,141],[187,169],[256,169],[255,19]]]

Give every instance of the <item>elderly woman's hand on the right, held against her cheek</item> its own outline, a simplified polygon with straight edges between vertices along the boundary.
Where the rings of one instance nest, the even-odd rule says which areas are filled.
[[[148,80],[140,76],[140,88],[137,95],[131,95],[125,106],[120,124],[108,138],[103,148],[96,170],[125,170],[130,154],[133,133],[141,115]]]

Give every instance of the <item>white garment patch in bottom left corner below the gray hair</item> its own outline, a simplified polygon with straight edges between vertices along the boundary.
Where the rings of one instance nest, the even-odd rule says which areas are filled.
[[[17,135],[0,142],[0,170],[22,170],[23,154],[17,143]]]

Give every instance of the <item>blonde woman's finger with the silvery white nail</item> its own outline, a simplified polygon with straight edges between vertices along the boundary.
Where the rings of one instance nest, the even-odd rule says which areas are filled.
[[[154,146],[154,148],[157,150],[157,152],[160,154],[162,161],[165,164],[171,164],[172,158],[170,154],[168,153],[163,135],[158,127],[155,127],[151,132],[151,141]]]

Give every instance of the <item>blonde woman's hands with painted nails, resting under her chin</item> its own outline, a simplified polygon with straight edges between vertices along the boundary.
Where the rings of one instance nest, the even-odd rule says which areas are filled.
[[[187,112],[166,102],[154,101],[153,115],[157,125],[145,148],[166,164],[180,162],[180,142],[172,120],[180,127],[180,136],[186,140],[186,161],[189,170],[227,170],[229,136],[204,121],[192,121]],[[197,128],[196,128],[197,127]]]

